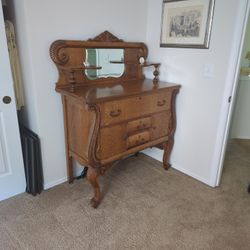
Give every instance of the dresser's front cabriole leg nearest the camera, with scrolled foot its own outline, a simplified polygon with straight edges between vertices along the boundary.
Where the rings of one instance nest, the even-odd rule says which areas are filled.
[[[94,188],[94,197],[91,199],[91,205],[97,208],[101,201],[101,190],[99,185],[100,170],[97,168],[89,167],[87,178],[92,187]]]

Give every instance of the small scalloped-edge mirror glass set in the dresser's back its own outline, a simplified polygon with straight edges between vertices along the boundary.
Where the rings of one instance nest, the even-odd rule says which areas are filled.
[[[105,77],[120,77],[124,73],[123,49],[86,49],[86,61],[84,66],[89,79]]]

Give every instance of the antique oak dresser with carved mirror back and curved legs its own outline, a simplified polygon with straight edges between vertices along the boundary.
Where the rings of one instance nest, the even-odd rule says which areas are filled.
[[[180,86],[159,81],[160,64],[148,63],[147,53],[144,43],[123,42],[108,31],[88,41],[51,45],[64,110],[68,180],[74,179],[73,159],[87,167],[93,207],[102,198],[98,177],[117,160],[158,147],[164,150],[164,168],[170,166]],[[143,75],[149,66],[153,80]]]

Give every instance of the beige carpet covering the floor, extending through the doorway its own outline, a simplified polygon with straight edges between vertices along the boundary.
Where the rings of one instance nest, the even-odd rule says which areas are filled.
[[[0,249],[250,249],[250,143],[233,141],[220,188],[140,154],[102,179],[98,209],[86,180],[0,203]]]

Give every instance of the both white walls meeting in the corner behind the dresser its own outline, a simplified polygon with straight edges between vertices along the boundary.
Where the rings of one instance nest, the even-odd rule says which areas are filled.
[[[87,39],[106,29],[127,41],[147,40],[149,60],[162,63],[161,80],[182,85],[171,162],[212,185],[233,37],[242,16],[240,5],[246,0],[216,1],[209,50],[159,47],[162,0],[11,1],[26,85],[26,116],[41,137],[46,187],[66,179],[62,107],[54,91],[57,70],[49,46],[56,39]],[[211,78],[204,77],[205,64],[214,69]],[[147,152],[157,159],[162,156],[161,151]]]

